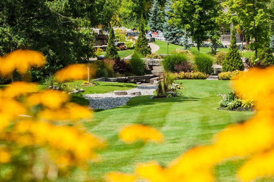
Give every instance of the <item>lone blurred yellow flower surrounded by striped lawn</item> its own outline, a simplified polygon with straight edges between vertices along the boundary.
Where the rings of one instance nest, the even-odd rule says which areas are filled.
[[[150,126],[130,125],[120,131],[119,138],[126,143],[132,143],[137,140],[142,140],[143,142],[147,142],[148,140],[152,142],[162,142],[163,135]]]

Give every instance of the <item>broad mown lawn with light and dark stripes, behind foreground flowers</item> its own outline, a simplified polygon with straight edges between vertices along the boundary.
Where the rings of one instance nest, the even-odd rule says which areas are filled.
[[[210,144],[212,136],[231,123],[248,119],[252,112],[217,110],[219,93],[230,91],[229,81],[179,80],[185,89],[178,98],[132,98],[126,106],[94,113],[86,122],[88,131],[106,139],[108,149],[101,151],[102,162],[90,165],[90,174],[101,181],[109,171],[133,172],[137,162],[156,160],[163,166],[193,146]],[[94,87],[95,88],[95,87]],[[124,126],[144,123],[156,127],[164,136],[162,144],[123,144],[118,133]],[[217,181],[235,180],[239,162],[217,166]]]

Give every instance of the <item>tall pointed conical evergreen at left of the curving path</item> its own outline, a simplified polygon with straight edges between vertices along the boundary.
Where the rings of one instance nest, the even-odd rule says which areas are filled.
[[[148,46],[148,40],[146,38],[145,24],[144,24],[143,17],[141,17],[140,19],[139,35],[138,35],[137,42],[135,44],[134,52],[139,53],[143,57],[146,57],[146,55],[151,54],[151,49],[150,49],[150,46]]]

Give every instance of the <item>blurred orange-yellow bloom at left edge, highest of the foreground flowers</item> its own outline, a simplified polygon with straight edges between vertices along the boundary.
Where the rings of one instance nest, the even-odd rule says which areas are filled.
[[[0,57],[0,75],[7,76],[14,70],[24,74],[30,67],[43,66],[45,60],[45,56],[38,51],[18,49]]]

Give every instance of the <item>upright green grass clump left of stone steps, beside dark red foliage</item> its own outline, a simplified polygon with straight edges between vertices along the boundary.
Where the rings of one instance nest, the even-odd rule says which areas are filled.
[[[136,76],[144,75],[146,65],[140,54],[133,53],[130,58],[129,65],[134,75]]]

